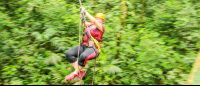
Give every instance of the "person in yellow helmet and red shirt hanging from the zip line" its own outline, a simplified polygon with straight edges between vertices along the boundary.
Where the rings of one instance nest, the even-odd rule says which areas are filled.
[[[103,22],[105,19],[105,15],[103,13],[97,13],[95,17],[90,15],[84,7],[80,7],[81,14],[84,14],[87,16],[87,18],[91,21],[89,22],[83,22],[84,27],[87,27],[84,29],[84,36],[82,38],[82,42],[80,45],[73,47],[66,51],[65,55],[71,65],[74,67],[75,71],[65,77],[65,80],[70,82],[75,77],[77,78],[77,81],[80,81],[84,75],[86,74],[86,71],[83,70],[84,66],[86,65],[88,60],[95,59],[99,55],[99,49],[97,48],[97,44],[94,44],[93,47],[91,47],[89,41],[91,39],[92,35],[95,40],[98,42],[102,41],[102,36],[105,31]],[[81,19],[83,16],[80,16]],[[88,31],[89,30],[89,31]],[[101,48],[101,45],[98,44]],[[78,55],[78,47],[79,48],[79,59],[77,61],[77,55]],[[80,73],[80,74],[79,74]]]

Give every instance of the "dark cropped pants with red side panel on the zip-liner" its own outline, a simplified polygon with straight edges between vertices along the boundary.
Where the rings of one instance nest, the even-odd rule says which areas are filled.
[[[78,46],[73,47],[65,53],[70,63],[74,63],[77,61],[78,56]],[[78,64],[84,67],[87,63],[87,60],[95,59],[99,55],[99,50],[91,47],[87,47],[85,45],[80,46],[79,49],[79,59]]]

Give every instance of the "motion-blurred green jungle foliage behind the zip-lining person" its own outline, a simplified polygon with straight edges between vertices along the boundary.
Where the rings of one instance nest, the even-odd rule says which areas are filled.
[[[106,16],[102,59],[87,62],[82,84],[92,84],[94,67],[94,85],[186,84],[200,47],[200,0],[81,1]],[[0,0],[0,84],[81,84],[64,80],[74,71],[65,52],[79,44],[79,8],[79,0]]]

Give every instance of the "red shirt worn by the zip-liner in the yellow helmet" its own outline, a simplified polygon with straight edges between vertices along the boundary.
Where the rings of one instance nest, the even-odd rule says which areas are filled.
[[[102,36],[105,30],[104,25],[102,24],[102,31],[100,31],[93,23],[91,23],[88,28],[84,31],[88,34],[88,36],[90,37],[90,34],[88,32],[88,29],[90,30],[90,34],[99,42],[102,41]],[[83,44],[82,45],[87,45],[88,46],[88,38],[87,35],[85,34],[83,36]],[[96,44],[95,44],[96,46]],[[97,46],[96,46],[97,47]],[[99,47],[101,47],[101,45],[99,44]]]

